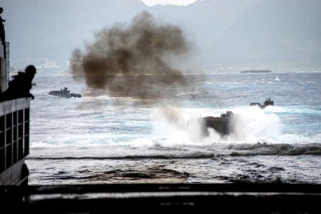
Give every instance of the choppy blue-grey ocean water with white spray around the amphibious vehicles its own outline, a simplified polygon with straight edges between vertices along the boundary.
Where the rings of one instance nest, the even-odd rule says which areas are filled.
[[[29,184],[321,183],[320,72],[186,78],[184,88],[164,88],[168,96],[141,100],[39,68]],[[63,87],[82,98],[48,95]],[[275,106],[249,107],[265,98]],[[238,116],[236,133],[202,136],[197,118],[226,111]]]

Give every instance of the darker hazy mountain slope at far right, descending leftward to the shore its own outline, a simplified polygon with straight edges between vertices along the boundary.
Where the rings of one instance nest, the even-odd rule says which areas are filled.
[[[213,41],[216,63],[309,68],[321,65],[321,1],[270,0]],[[211,53],[211,51],[209,51]],[[204,61],[213,57],[205,56]]]

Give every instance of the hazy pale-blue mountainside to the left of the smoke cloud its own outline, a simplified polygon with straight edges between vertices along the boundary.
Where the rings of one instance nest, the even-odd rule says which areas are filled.
[[[67,61],[95,31],[128,21],[147,6],[132,0],[10,0],[3,7],[11,61],[44,57]]]

